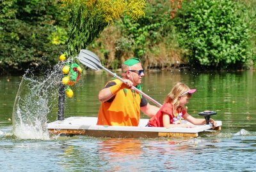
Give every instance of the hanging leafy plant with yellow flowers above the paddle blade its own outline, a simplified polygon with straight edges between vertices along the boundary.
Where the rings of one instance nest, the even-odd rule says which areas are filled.
[[[115,20],[142,17],[145,0],[63,0],[63,6],[70,14],[67,54],[76,55]]]

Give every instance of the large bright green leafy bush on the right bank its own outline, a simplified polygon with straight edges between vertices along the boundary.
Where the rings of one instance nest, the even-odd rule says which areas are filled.
[[[242,66],[248,51],[248,23],[242,4],[227,0],[184,1],[174,22],[179,43],[189,52],[189,62],[226,68]]]

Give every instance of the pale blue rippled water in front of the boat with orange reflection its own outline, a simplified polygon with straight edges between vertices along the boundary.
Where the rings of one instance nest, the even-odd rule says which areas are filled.
[[[11,132],[10,127],[3,131]],[[255,140],[255,133],[157,139],[75,136],[51,140],[0,135],[0,162],[4,162],[3,171],[253,171]]]

